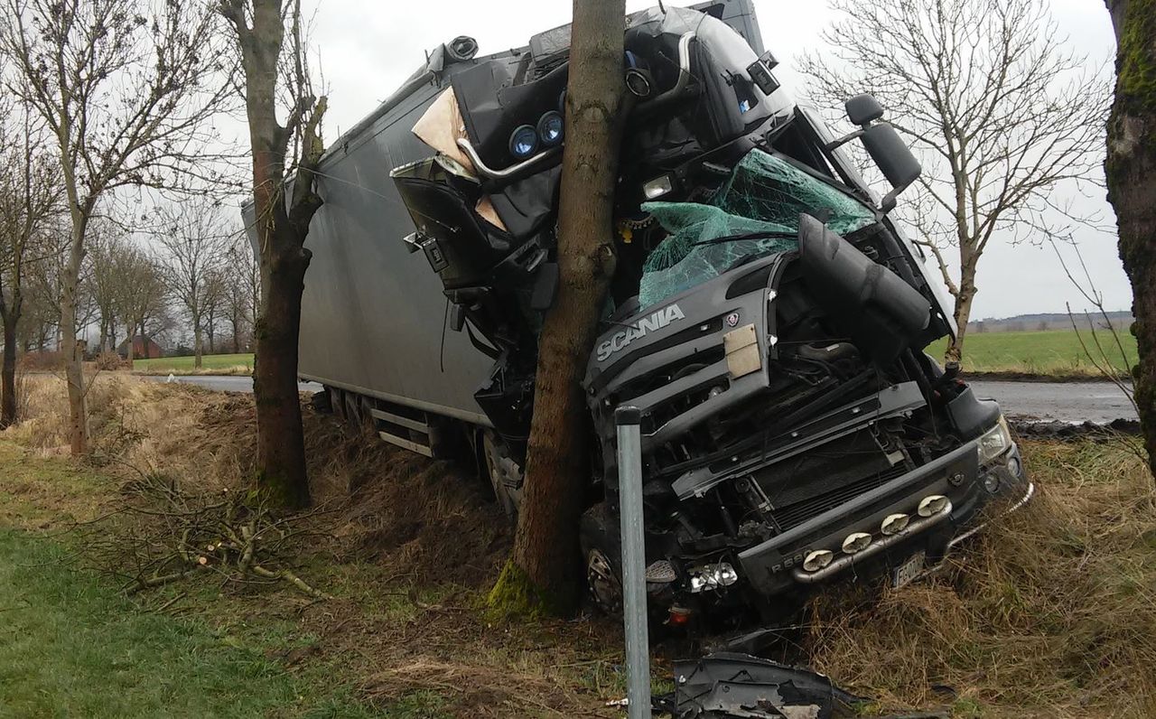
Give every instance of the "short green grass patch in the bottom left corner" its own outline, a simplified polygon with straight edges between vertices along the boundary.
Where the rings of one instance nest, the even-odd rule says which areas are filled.
[[[0,528],[0,717],[371,716],[336,668],[269,658],[275,633],[143,611],[51,540]]]

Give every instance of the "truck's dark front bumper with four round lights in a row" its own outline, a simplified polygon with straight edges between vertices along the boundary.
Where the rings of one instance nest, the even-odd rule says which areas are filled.
[[[1007,496],[1022,504],[1032,491],[1014,444],[980,467],[972,440],[740,553],[739,561],[751,586],[764,595],[781,594],[847,572],[859,578],[882,575],[918,551],[926,553],[927,561],[935,563],[953,544],[979,528],[976,516],[990,501]],[[947,497],[949,504],[929,517],[920,517],[917,512],[920,501],[935,495]],[[911,524],[897,534],[884,535],[882,521],[895,513],[910,516]],[[843,551],[843,541],[852,533],[872,535],[870,544],[854,554]],[[835,559],[822,569],[805,570],[803,559],[822,549],[832,551]]]

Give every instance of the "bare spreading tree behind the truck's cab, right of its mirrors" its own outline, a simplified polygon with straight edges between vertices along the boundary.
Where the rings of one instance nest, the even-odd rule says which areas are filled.
[[[980,257],[1092,221],[1058,187],[1099,181],[1107,82],[1066,47],[1044,0],[832,0],[829,45],[801,69],[832,106],[873,92],[924,163],[924,207],[905,213],[955,298],[958,360]],[[950,268],[955,247],[959,269]]]

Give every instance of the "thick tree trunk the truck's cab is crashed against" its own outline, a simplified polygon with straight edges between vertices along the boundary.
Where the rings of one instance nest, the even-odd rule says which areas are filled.
[[[622,0],[573,2],[558,208],[561,284],[539,338],[513,554],[490,593],[491,610],[499,615],[565,614],[578,596],[578,524],[590,477],[579,380],[614,274],[624,16]]]

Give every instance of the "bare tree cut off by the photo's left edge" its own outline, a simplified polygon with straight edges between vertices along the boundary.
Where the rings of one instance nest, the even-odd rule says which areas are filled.
[[[44,235],[54,229],[51,220],[62,209],[52,158],[44,154],[37,128],[27,113],[9,123],[12,108],[7,110],[0,108],[0,429],[17,420],[16,350],[27,270],[43,259],[40,254],[47,250]]]

